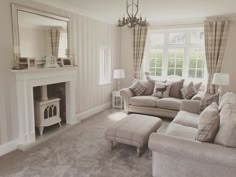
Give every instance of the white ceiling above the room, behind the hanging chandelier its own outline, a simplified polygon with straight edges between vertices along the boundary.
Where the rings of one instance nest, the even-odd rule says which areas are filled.
[[[125,14],[126,0],[35,0],[77,11],[110,23]],[[236,0],[140,0],[140,12],[149,21],[171,21],[236,14]]]

